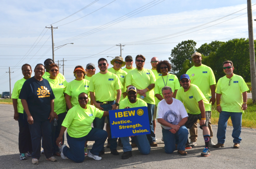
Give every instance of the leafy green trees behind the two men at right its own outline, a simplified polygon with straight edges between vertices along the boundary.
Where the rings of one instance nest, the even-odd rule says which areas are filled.
[[[256,40],[254,45],[255,42]],[[246,82],[251,82],[248,38],[235,38],[227,42],[212,41],[209,44],[202,44],[199,48],[195,46],[196,42],[187,40],[172,49],[172,54],[169,57],[172,74],[177,77],[185,74],[189,68],[194,66],[191,55],[199,52],[202,54],[202,64],[212,69],[216,81],[225,75],[222,63],[231,60],[234,64],[234,74],[242,76]]]

